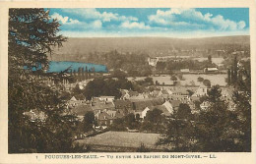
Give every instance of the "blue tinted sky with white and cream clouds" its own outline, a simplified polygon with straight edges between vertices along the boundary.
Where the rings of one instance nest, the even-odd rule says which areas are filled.
[[[249,35],[248,8],[51,8],[50,17],[68,37]]]

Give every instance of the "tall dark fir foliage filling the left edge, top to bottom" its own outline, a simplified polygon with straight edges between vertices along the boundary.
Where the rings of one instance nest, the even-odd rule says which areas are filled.
[[[9,153],[72,151],[72,126],[76,118],[64,113],[65,104],[59,99],[62,92],[56,89],[57,83],[45,83],[49,79],[55,81],[56,76],[61,82],[62,74],[44,73],[48,67],[47,54],[66,40],[57,34],[59,27],[44,9],[9,10]],[[42,117],[32,119],[30,111],[37,111]]]

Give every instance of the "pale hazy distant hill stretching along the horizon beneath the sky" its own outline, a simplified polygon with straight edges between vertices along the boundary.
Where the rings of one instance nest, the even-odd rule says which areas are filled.
[[[72,56],[86,56],[89,53],[109,52],[167,52],[173,49],[208,49],[220,45],[249,45],[249,35],[220,36],[205,38],[170,38],[170,37],[84,37],[68,38],[63,47],[56,49],[51,60],[70,60]]]

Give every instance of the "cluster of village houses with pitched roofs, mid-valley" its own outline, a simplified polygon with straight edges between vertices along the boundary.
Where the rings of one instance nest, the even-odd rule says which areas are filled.
[[[224,98],[230,98],[230,91],[224,90]],[[207,95],[208,88],[205,86],[161,86],[159,89],[139,93],[137,91],[122,89],[120,99],[114,96],[93,97],[86,100],[83,95],[73,96],[67,102],[68,111],[75,114],[79,120],[83,120],[87,112],[94,112],[98,126],[109,126],[115,119],[122,118],[129,113],[140,117],[143,121],[148,111],[159,109],[162,115],[169,117],[181,103],[190,106],[193,113],[198,112],[195,101]],[[204,101],[200,104],[201,109],[206,109],[209,103]]]

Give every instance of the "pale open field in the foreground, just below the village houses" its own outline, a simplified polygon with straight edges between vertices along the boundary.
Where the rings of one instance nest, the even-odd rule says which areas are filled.
[[[137,149],[143,143],[147,148],[161,149],[157,146],[160,134],[128,133],[128,132],[106,132],[96,137],[87,137],[77,140],[79,144],[92,146],[128,147]]]

